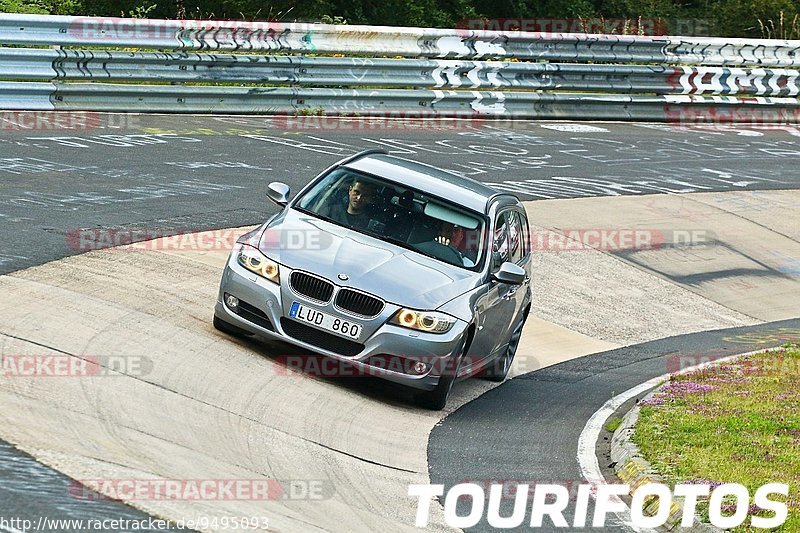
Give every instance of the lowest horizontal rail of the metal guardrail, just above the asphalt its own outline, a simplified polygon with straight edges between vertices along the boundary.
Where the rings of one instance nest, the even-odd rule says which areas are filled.
[[[16,86],[16,87],[10,87]],[[52,92],[49,106],[42,95]],[[714,116],[724,121],[760,117],[787,121],[800,112],[796,98],[635,96],[585,93],[359,90],[288,87],[182,87],[110,83],[0,83],[0,107],[182,113],[294,115],[308,109],[352,116],[575,118],[663,121]]]

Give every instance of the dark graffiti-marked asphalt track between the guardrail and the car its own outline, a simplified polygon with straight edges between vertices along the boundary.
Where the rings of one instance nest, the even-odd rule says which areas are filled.
[[[312,129],[319,117],[292,126],[269,117],[91,115],[96,127],[55,131],[15,127],[24,124],[16,117],[0,114],[0,274],[77,253],[67,237],[79,228],[256,223],[275,212],[263,196],[270,181],[297,190],[366,148],[522,200],[788,189],[800,158],[794,128],[355,120]]]

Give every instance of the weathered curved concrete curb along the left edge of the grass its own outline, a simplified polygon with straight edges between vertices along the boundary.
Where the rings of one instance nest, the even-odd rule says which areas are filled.
[[[647,394],[643,399],[652,397],[658,389],[654,389]],[[664,483],[664,478],[659,475],[652,467],[650,462],[644,458],[633,442],[633,433],[636,430],[636,422],[639,420],[639,411],[641,407],[637,402],[624,417],[622,417],[622,424],[614,431],[611,438],[611,461],[614,465],[614,473],[622,480],[623,483],[630,485],[628,494],[633,496],[633,493],[642,485],[648,483]],[[644,512],[654,515],[658,510],[659,500],[653,498],[644,508]],[[670,505],[669,517],[664,524],[664,528],[672,531],[673,529],[680,528],[681,518],[683,517],[684,498],[682,496],[675,496]],[[688,531],[703,532],[703,533],[721,533],[723,530],[714,527],[710,524],[704,523],[700,517],[695,514],[694,522],[689,526]]]

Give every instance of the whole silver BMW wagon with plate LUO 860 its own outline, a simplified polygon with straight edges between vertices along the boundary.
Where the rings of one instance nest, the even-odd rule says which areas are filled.
[[[453,383],[503,381],[531,306],[519,199],[367,150],[348,157],[233,247],[214,326],[276,338],[417,389],[442,409]]]

